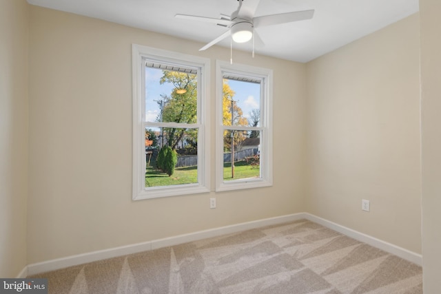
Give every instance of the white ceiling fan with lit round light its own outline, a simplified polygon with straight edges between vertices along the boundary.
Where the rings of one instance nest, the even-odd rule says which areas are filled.
[[[220,14],[219,19],[214,19],[210,17],[176,14],[175,17],[181,19],[190,19],[194,21],[204,21],[206,23],[214,23],[216,25],[221,25],[225,28],[229,28],[227,32],[224,32],[216,39],[203,46],[203,48],[199,49],[199,51],[202,51],[210,48],[212,45],[222,41],[230,35],[232,36],[233,41],[235,41],[236,43],[245,43],[252,38],[260,40],[260,37],[255,30],[256,28],[267,25],[278,25],[280,23],[304,21],[306,19],[311,19],[314,15],[314,10],[304,10],[280,14],[270,14],[262,17],[254,17],[254,13],[256,12],[260,0],[237,1],[239,2],[239,7],[236,11],[232,13],[231,16]]]

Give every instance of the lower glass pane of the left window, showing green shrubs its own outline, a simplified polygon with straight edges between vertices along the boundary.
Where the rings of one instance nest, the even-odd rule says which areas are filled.
[[[145,187],[198,182],[198,129],[146,127],[145,134]],[[170,147],[176,153],[171,176],[167,173],[170,169],[167,162],[172,156],[164,156],[163,147]]]

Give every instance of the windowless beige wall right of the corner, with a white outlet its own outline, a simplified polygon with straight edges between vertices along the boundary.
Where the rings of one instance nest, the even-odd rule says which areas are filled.
[[[308,211],[416,253],[419,66],[418,14],[307,64]]]

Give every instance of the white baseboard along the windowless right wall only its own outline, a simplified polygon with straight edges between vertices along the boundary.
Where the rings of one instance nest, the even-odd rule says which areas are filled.
[[[358,240],[360,242],[364,242],[364,243],[369,244],[373,247],[376,247],[378,249],[386,251],[387,253],[397,255],[398,257],[400,257],[404,260],[408,260],[409,262],[413,262],[414,264],[418,264],[419,266],[422,266],[422,255],[421,254],[409,251],[407,249],[404,249],[400,246],[396,246],[396,245],[391,244],[389,242],[384,242],[380,239],[373,238],[370,235],[360,233],[360,232],[355,231],[353,229],[349,229],[347,227],[340,226],[340,224],[336,224],[335,222],[330,222],[329,220],[325,220],[324,218],[319,218],[318,216],[314,216],[310,213],[304,213],[304,217],[307,220],[311,220],[311,222],[316,222],[316,223],[321,224],[322,226],[325,226],[329,229],[333,229],[334,231],[338,231],[339,233],[342,233],[343,235],[347,235],[348,237],[351,237],[355,240]]]

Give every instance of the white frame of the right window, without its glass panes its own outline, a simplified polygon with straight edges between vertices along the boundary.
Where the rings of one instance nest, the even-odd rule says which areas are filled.
[[[260,78],[260,176],[258,179],[223,179],[223,134],[225,129],[249,129],[245,126],[223,125],[223,76],[250,76]],[[273,71],[249,65],[230,64],[216,61],[216,191],[268,187],[273,185],[273,113],[272,113]],[[255,128],[253,128],[255,129]]]

